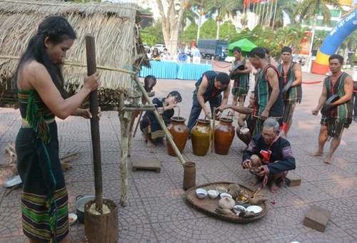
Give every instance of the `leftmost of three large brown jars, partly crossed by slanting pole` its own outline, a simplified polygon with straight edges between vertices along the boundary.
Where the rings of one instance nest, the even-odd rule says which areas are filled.
[[[171,118],[171,123],[167,126],[167,129],[172,135],[172,139],[174,140],[176,147],[182,153],[183,149],[186,146],[187,138],[188,138],[188,128],[185,124],[185,118],[174,116]],[[174,148],[172,148],[170,143],[167,143],[167,150],[169,155],[176,157],[176,152]]]

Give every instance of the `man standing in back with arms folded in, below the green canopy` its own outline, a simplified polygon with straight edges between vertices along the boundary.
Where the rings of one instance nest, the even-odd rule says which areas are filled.
[[[233,61],[231,69],[229,69],[228,71],[231,72],[231,70],[239,64],[244,65],[244,70],[237,69],[233,73],[233,75],[238,74],[238,76],[236,77],[236,79],[234,79],[234,83],[232,87],[232,95],[233,95],[232,105],[237,105],[239,100],[239,105],[243,106],[244,100],[246,100],[246,95],[248,94],[249,91],[251,62],[249,61],[248,58],[242,56],[242,49],[240,47],[238,46],[234,47],[232,52],[236,60]]]

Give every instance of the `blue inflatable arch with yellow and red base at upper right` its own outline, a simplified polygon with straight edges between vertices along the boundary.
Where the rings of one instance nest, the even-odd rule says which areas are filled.
[[[336,53],[338,46],[357,29],[357,6],[345,14],[344,18],[338,21],[335,28],[332,29],[325,41],[323,41],[320,50],[317,53],[313,73],[325,74],[328,68],[328,58]]]

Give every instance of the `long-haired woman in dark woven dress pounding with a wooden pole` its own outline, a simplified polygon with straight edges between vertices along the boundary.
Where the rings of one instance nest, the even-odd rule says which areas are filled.
[[[89,110],[79,106],[100,83],[96,72],[84,78],[84,86],[75,95],[68,97],[64,91],[61,63],[74,39],[76,33],[64,17],[48,17],[29,40],[14,76],[22,118],[16,138],[17,168],[24,183],[22,226],[31,243],[71,242],[55,116],[91,118]],[[85,237],[81,242],[88,240]]]

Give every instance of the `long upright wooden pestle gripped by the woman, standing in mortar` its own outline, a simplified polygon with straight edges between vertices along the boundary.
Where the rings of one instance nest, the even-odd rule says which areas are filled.
[[[96,72],[96,46],[94,36],[86,35],[87,75]],[[103,182],[101,178],[101,138],[98,118],[98,89],[89,93],[89,110],[91,111],[91,145],[93,148],[94,188],[96,190],[96,208],[103,209]]]

